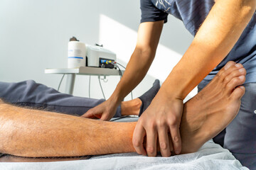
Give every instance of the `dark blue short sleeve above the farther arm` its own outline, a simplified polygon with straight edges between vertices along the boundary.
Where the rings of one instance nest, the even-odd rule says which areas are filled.
[[[154,22],[154,21],[163,21],[167,22],[168,13],[161,11],[159,8],[156,8],[151,0],[140,0],[141,10],[142,10],[142,19],[141,23],[144,22]]]

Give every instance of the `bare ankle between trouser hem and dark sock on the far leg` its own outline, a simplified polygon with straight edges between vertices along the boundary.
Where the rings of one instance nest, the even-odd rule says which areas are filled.
[[[121,113],[122,115],[139,115],[142,101],[139,98],[135,98],[131,101],[122,101]]]

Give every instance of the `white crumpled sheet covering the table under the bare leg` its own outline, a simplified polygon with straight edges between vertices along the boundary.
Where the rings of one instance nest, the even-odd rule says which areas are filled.
[[[212,140],[198,152],[174,157],[144,157],[137,153],[108,154],[67,162],[1,162],[0,169],[247,169]]]

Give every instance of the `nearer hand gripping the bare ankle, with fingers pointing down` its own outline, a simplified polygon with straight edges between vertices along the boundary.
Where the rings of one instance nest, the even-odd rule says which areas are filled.
[[[179,126],[183,113],[183,101],[178,98],[170,98],[159,91],[149,108],[139,118],[134,129],[132,144],[138,154],[156,156],[156,140],[162,157],[171,156],[171,151],[176,154],[181,152],[181,135]],[[169,135],[171,141],[169,141]],[[146,150],[143,147],[146,136]]]

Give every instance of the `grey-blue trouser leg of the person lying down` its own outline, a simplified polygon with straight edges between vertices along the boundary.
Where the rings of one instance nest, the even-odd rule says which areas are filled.
[[[99,105],[104,99],[92,99],[61,94],[53,88],[37,84],[33,80],[18,83],[0,81],[0,98],[18,106],[41,108],[46,111],[83,115],[90,108]],[[117,108],[114,117],[121,117],[121,108]]]

